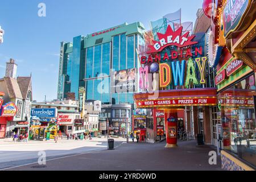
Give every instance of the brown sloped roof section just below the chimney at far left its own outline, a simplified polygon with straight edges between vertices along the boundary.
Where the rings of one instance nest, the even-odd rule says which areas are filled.
[[[22,93],[20,92],[20,88],[18,82],[15,78],[12,77],[4,77],[6,88],[8,90],[8,94],[10,98],[22,98]]]

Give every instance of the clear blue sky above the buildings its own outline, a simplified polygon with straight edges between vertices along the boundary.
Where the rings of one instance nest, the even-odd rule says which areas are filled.
[[[46,16],[38,16],[45,3]],[[32,97],[36,101],[57,97],[60,42],[92,34],[122,23],[150,21],[181,8],[181,22],[196,20],[203,0],[1,0],[0,78],[6,62],[18,64],[17,76],[32,74]]]

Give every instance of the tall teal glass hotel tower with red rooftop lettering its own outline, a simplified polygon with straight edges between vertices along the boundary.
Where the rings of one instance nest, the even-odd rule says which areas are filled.
[[[105,104],[133,104],[133,93],[110,92],[112,71],[136,68],[136,49],[143,39],[144,26],[140,22],[123,23],[87,36],[76,36],[73,43],[61,42],[57,98],[86,89],[87,100]]]

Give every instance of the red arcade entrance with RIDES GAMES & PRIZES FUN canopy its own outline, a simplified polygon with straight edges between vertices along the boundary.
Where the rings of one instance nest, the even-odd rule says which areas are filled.
[[[152,138],[158,138],[159,123],[164,122],[166,147],[176,146],[177,139],[195,139],[196,134],[203,134],[204,143],[212,144],[210,113],[217,105],[216,89],[160,90],[157,98],[139,93],[134,94],[134,100],[137,108],[151,110],[156,118]]]

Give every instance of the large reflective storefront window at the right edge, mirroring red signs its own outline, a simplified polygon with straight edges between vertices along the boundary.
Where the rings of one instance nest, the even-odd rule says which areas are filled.
[[[255,77],[251,75],[218,95],[224,148],[256,165]]]

